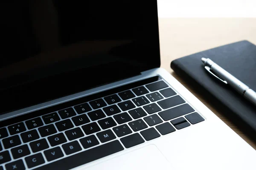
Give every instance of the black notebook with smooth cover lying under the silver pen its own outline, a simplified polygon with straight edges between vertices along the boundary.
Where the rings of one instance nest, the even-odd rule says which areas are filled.
[[[256,140],[256,106],[205,70],[201,58],[212,59],[256,91],[256,45],[248,41],[212,48],[175,59],[171,68],[213,106]],[[204,114],[204,113],[203,113]]]

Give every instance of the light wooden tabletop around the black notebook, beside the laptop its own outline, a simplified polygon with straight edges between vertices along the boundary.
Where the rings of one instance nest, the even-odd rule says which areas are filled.
[[[170,68],[172,60],[236,41],[248,40],[256,44],[256,18],[160,18],[161,67],[165,68],[189,91],[203,102],[223,122],[256,149],[256,142],[248,138],[221,111],[197,94]]]

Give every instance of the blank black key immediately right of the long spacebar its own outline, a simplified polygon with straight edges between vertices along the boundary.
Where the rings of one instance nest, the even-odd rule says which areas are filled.
[[[121,138],[120,140],[126,148],[133,147],[135,145],[142,144],[145,142],[139,133],[134,133],[132,135],[125,136],[125,137]]]

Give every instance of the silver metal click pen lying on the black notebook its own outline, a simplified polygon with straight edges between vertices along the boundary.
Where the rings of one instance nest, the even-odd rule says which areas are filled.
[[[219,79],[221,82],[230,85],[234,88],[239,94],[244,96],[245,99],[250,101],[256,106],[256,92],[241,82],[239,79],[234,77],[232,74],[221,68],[211,59],[201,58],[204,63],[204,68],[212,74],[214,77]]]

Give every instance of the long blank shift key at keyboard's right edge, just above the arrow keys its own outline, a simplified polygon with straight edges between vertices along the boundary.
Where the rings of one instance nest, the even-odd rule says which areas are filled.
[[[175,108],[168,109],[166,111],[159,112],[158,114],[164,119],[165,121],[174,119],[179,116],[183,116],[187,113],[195,111],[191,108],[188,104],[180,105]]]

